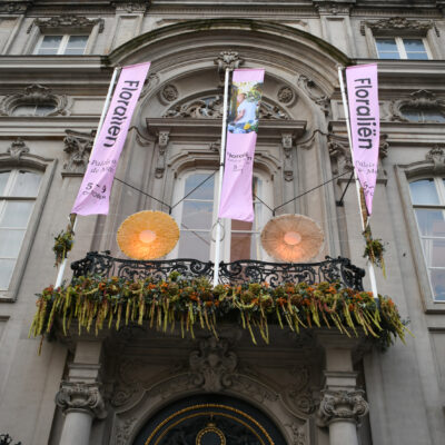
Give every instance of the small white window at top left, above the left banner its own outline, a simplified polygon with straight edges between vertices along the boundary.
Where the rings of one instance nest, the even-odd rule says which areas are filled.
[[[89,36],[41,36],[34,55],[39,56],[81,56],[87,47]]]

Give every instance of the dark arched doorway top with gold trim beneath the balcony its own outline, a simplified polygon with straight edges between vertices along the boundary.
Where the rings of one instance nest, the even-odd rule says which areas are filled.
[[[285,445],[274,422],[250,404],[199,395],[175,402],[152,416],[134,445]]]

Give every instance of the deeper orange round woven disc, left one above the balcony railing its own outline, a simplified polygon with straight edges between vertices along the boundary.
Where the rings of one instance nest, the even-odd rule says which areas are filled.
[[[156,235],[151,243],[144,243],[140,234],[150,230]],[[129,216],[119,227],[117,240],[120,250],[134,259],[164,257],[179,239],[175,219],[164,211],[144,210]]]

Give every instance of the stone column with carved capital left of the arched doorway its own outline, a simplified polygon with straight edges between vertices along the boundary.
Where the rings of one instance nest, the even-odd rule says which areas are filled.
[[[99,382],[101,342],[78,342],[68,378],[60,385],[56,404],[65,414],[60,445],[89,445],[91,424],[107,412]]]

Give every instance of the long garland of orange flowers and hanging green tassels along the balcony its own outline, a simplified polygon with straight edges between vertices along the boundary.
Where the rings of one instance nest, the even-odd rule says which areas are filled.
[[[95,326],[96,334],[103,326],[119,327],[125,323],[145,322],[164,332],[180,325],[195,338],[196,325],[207,328],[216,337],[217,320],[238,315],[243,328],[248,329],[254,344],[255,333],[269,343],[269,323],[299,333],[301,328],[337,328],[347,336],[358,329],[374,338],[383,348],[396,337],[405,339],[407,328],[390,298],[342,287],[338,283],[284,284],[271,288],[268,284],[218,285],[212,288],[206,278],[184,279],[172,273],[167,280],[151,277],[136,281],[101,276],[73,278],[69,286],[47,287],[38,294],[37,313],[30,335],[50,333],[56,316],[61,317],[67,332],[77,318],[79,334]],[[405,343],[405,342],[404,342]]]

